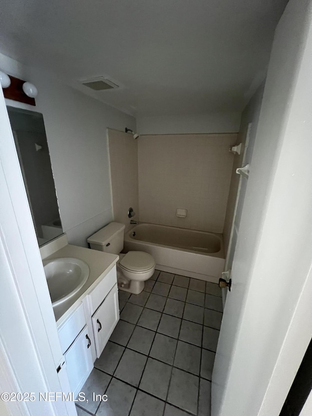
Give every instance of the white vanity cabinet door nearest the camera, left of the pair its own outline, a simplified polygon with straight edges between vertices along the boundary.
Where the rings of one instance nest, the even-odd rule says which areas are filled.
[[[92,339],[92,337],[89,337],[88,328],[85,326],[64,354],[69,385],[75,397],[93,369],[90,338]]]

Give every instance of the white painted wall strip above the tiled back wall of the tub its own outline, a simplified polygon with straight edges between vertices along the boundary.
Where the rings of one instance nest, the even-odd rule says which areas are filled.
[[[183,116],[137,117],[137,133],[192,134],[236,133],[239,130],[241,112],[190,114]]]

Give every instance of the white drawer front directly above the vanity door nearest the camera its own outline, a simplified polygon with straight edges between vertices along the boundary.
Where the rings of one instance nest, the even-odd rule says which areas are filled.
[[[80,303],[77,309],[66,319],[66,321],[59,327],[59,342],[62,349],[62,353],[70,347],[78,336],[81,329],[86,324],[86,318],[84,315],[83,304]]]

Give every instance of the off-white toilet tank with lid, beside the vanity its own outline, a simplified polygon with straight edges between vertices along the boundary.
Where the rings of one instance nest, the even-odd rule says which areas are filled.
[[[105,253],[119,254],[123,249],[125,225],[111,222],[87,239],[90,247]]]

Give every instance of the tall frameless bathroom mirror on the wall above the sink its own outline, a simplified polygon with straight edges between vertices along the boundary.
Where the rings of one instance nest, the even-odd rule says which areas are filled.
[[[7,107],[39,246],[63,233],[43,116]]]

